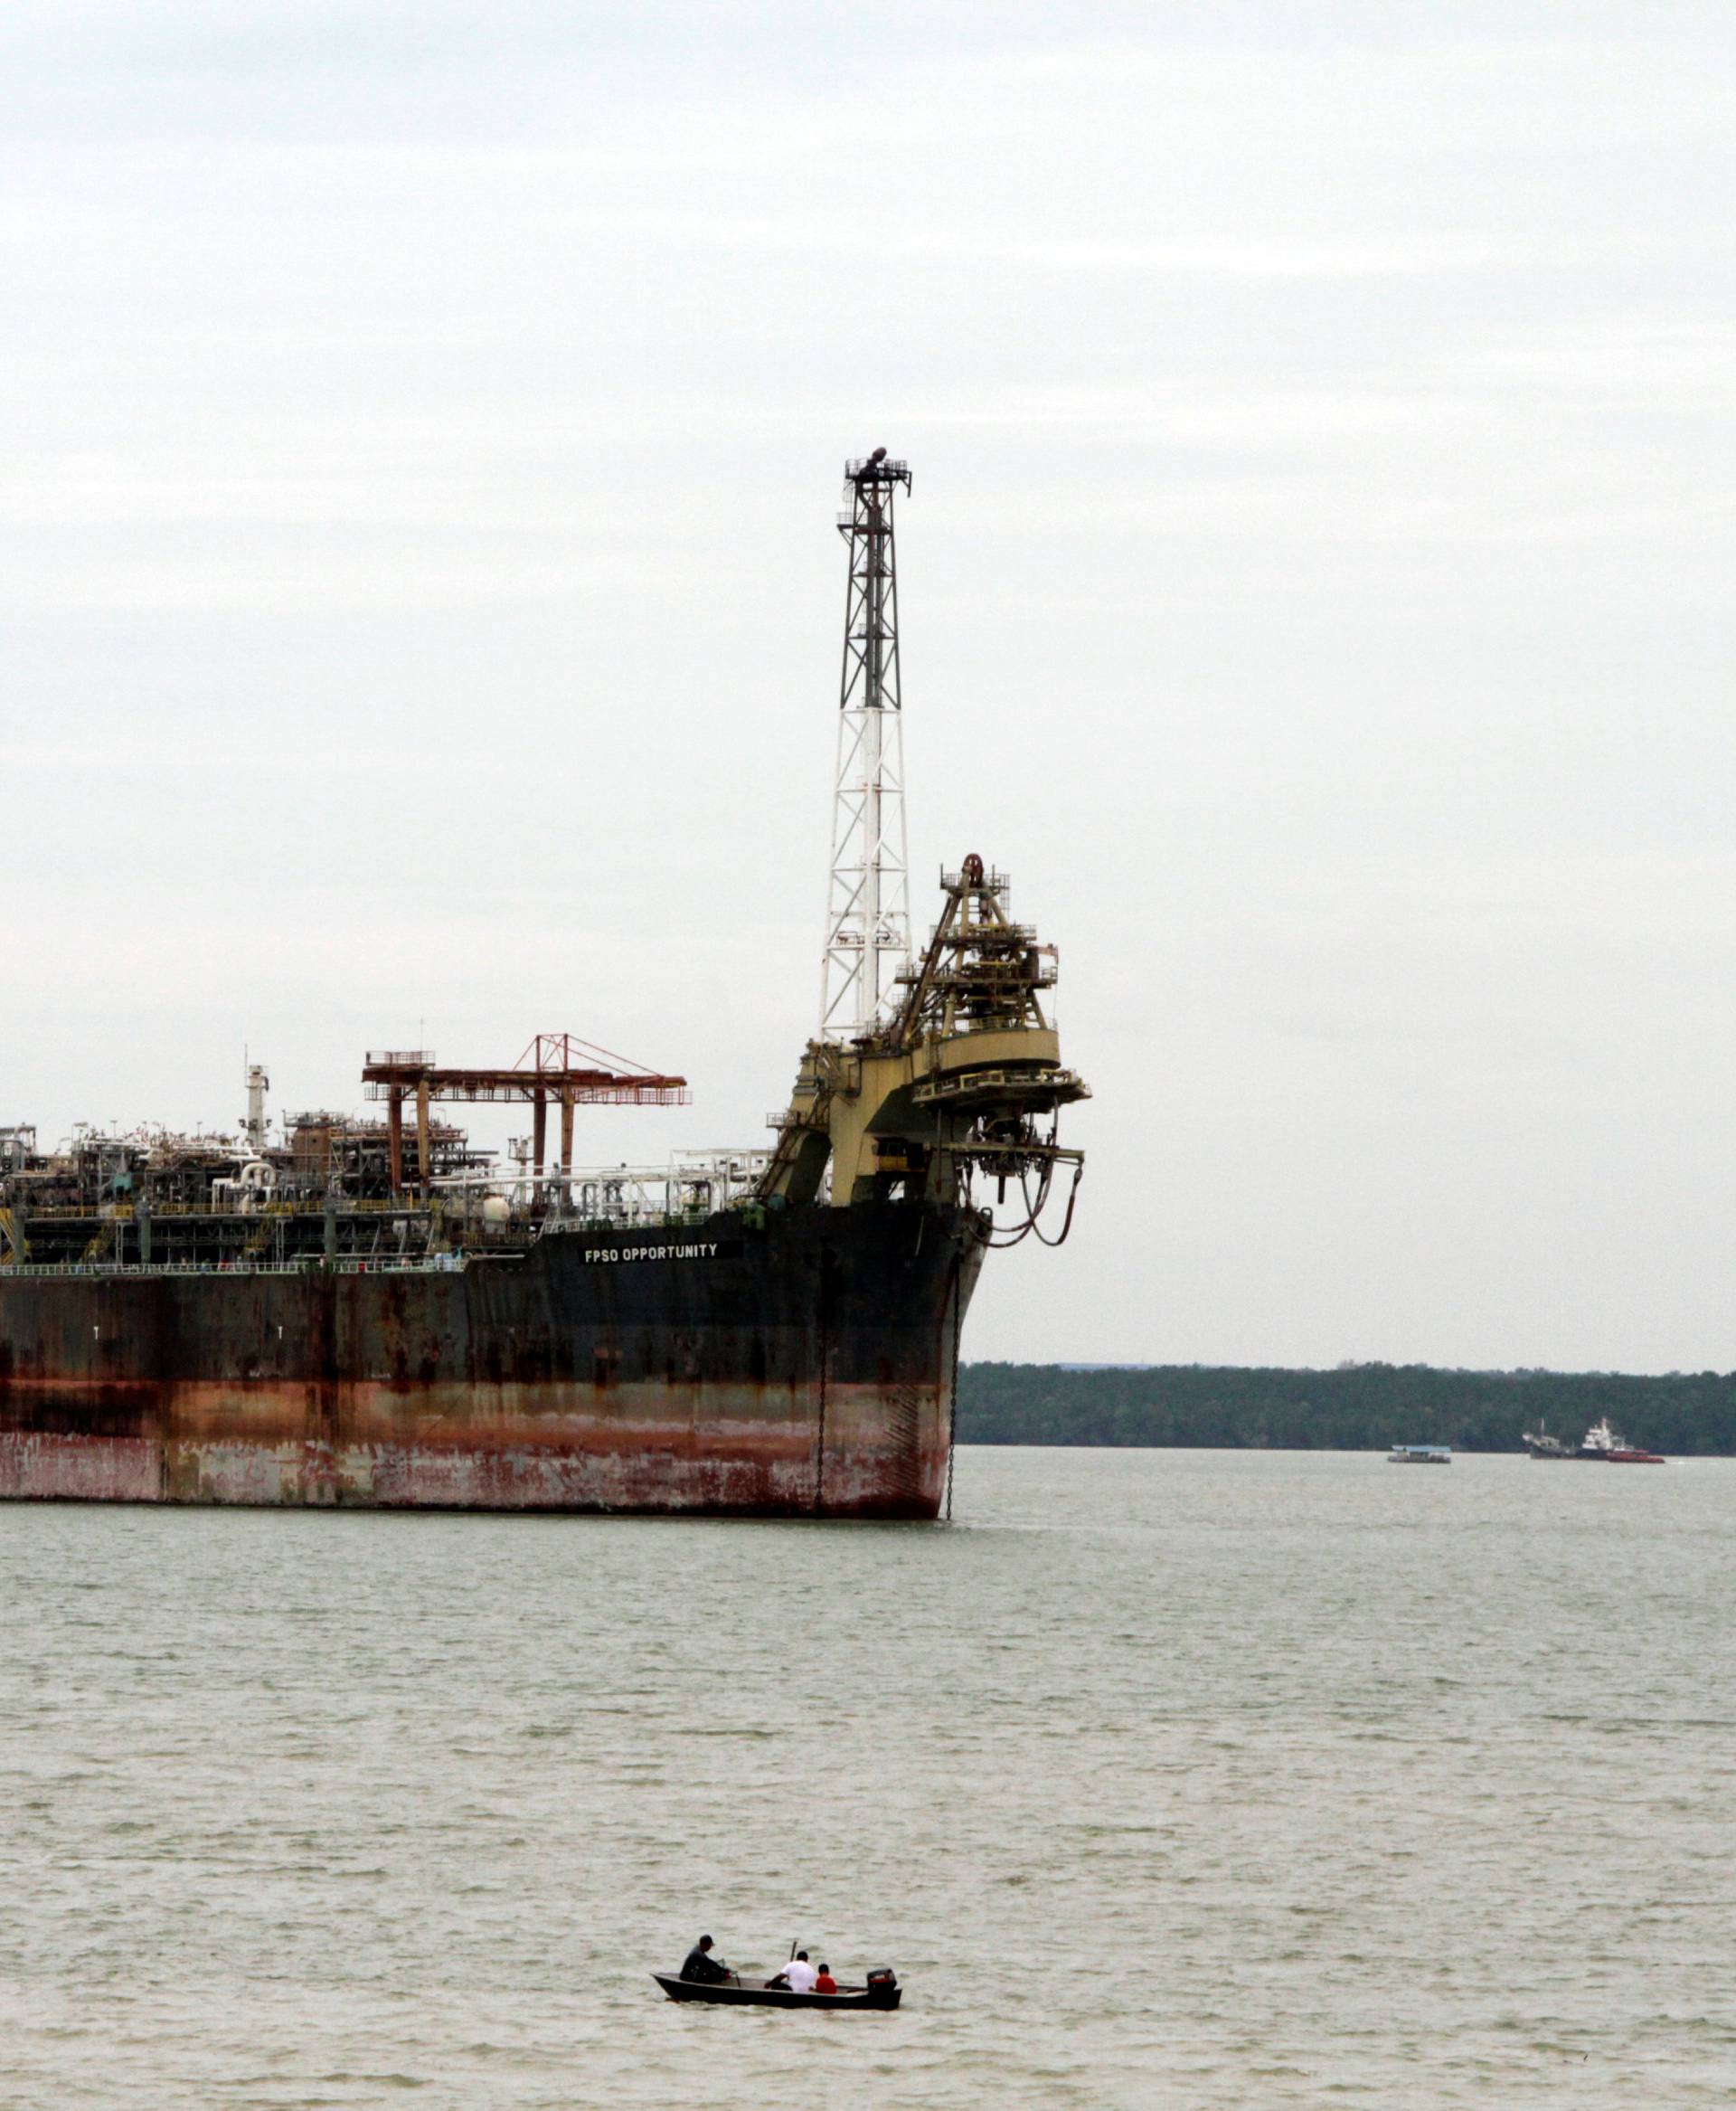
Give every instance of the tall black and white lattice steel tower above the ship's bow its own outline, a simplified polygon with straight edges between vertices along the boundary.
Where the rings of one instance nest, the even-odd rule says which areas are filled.
[[[873,1028],[911,952],[899,566],[892,540],[892,494],[901,483],[911,488],[909,464],[888,462],[884,448],[875,448],[865,462],[844,464],[846,511],[837,515],[837,532],[850,547],[850,585],[821,967],[825,1041],[852,1041]]]

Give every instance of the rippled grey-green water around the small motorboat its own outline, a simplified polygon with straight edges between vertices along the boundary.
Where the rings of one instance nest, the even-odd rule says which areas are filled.
[[[1736,1461],[0,1505],[0,2103],[1725,2105]],[[709,1929],[896,2016],[677,2010]]]

